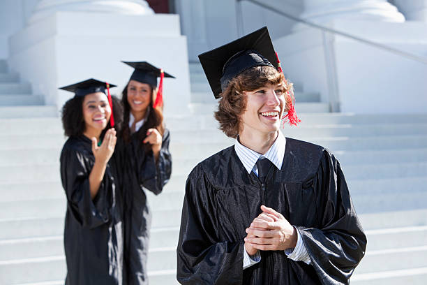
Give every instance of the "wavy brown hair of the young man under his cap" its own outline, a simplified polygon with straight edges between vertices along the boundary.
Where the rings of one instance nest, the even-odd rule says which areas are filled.
[[[255,66],[246,69],[227,85],[227,88],[220,94],[221,98],[218,111],[214,113],[215,119],[219,122],[219,129],[230,138],[236,138],[241,131],[240,116],[246,110],[248,97],[244,91],[254,91],[267,84],[277,85],[283,82],[283,92],[285,93],[285,111],[292,103],[288,92],[292,89],[292,83],[285,80],[283,73],[279,73],[271,66]]]

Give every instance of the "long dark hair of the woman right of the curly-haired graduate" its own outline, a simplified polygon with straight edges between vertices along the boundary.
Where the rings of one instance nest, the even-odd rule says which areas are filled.
[[[121,131],[121,137],[125,142],[130,142],[130,128],[129,128],[129,115],[130,115],[130,105],[128,102],[128,85],[124,87],[123,92],[121,92],[121,103],[123,105],[123,129]],[[137,136],[139,140],[142,142],[144,138],[147,137],[148,129],[157,129],[161,136],[165,133],[165,126],[163,124],[163,106],[153,108],[153,102],[156,98],[156,87],[150,86],[150,103],[147,108],[149,108],[149,115],[147,117],[147,121],[144,122],[141,129],[137,131]],[[148,110],[147,110],[148,111]],[[144,144],[145,152],[149,152],[151,146],[149,143]]]

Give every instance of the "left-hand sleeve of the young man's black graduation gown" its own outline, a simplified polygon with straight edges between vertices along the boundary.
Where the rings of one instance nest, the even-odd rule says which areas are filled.
[[[244,240],[218,238],[213,187],[199,164],[188,176],[177,248],[181,284],[241,284]]]

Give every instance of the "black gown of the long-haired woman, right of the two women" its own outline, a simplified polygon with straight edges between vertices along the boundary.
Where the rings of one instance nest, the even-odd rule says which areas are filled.
[[[140,131],[142,131],[141,128]],[[144,130],[145,131],[145,130]],[[153,152],[145,152],[138,132],[133,133],[126,145],[128,171],[126,171],[125,211],[125,267],[129,285],[148,284],[147,256],[151,212],[144,189],[158,195],[169,181],[172,156],[169,152],[170,133],[165,129],[158,163]]]

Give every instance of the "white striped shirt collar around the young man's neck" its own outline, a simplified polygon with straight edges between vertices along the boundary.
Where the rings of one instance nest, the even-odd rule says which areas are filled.
[[[253,170],[255,163],[257,163],[257,160],[260,159],[260,156],[264,156],[266,159],[269,159],[269,161],[271,161],[271,163],[273,163],[274,166],[276,166],[276,168],[279,170],[282,169],[283,157],[285,156],[285,147],[286,138],[283,136],[281,131],[278,131],[276,140],[265,154],[259,154],[252,149],[245,147],[239,142],[239,138],[236,138],[236,142],[234,144],[236,154],[248,173]],[[257,168],[255,168],[255,173],[257,173]]]

